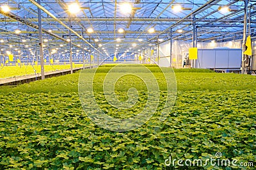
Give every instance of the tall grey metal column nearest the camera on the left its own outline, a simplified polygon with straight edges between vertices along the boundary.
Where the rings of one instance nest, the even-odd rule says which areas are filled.
[[[40,0],[37,0],[37,3],[40,4]],[[37,8],[38,11],[38,36],[39,36],[39,54],[40,54],[40,65],[41,65],[41,79],[44,80],[44,51],[42,44],[42,16],[40,8]],[[20,63],[21,65],[21,63]]]

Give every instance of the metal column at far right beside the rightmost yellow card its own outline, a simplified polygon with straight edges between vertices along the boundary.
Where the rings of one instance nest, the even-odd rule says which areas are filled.
[[[247,29],[247,7],[248,7],[248,0],[244,1],[244,30],[243,30],[243,45],[242,45],[242,70],[241,73],[246,73],[245,68],[245,61],[246,61],[246,55],[244,55],[245,51],[245,41],[246,41],[246,29]]]

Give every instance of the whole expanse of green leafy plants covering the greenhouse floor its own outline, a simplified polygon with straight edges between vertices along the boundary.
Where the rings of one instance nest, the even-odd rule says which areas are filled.
[[[144,88],[139,88],[136,108],[111,107],[100,89],[104,75],[97,74],[95,97],[106,114],[129,118],[144,107]],[[163,87],[161,74],[154,75]],[[168,118],[159,121],[166,96],[162,89],[156,114],[140,128],[121,133],[99,128],[86,116],[77,94],[78,76],[0,88],[0,169],[230,169],[164,165],[169,156],[204,160],[216,152],[256,162],[256,77],[177,72],[179,91]],[[116,84],[122,101],[127,100],[122,83],[131,80],[131,86],[138,82],[141,87],[134,77]]]

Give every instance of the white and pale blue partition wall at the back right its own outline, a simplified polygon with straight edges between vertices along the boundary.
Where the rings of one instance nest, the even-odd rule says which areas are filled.
[[[197,62],[196,68],[210,68],[212,63],[214,63],[213,68],[238,68],[241,65],[242,54],[237,55],[237,50],[241,53],[241,41],[199,42],[197,45],[198,49],[205,50],[204,52],[198,51],[198,59],[201,63]],[[174,68],[182,68],[184,58],[187,56],[190,47],[193,47],[191,42],[172,40],[172,66]],[[225,50],[219,49],[220,47],[225,48]],[[212,54],[211,50],[214,49],[219,49],[216,54]],[[202,54],[204,59],[202,59]],[[229,56],[229,58],[223,56]],[[153,59],[156,63],[159,63],[159,66],[170,66],[170,40],[159,44],[159,61],[157,62],[157,55]]]

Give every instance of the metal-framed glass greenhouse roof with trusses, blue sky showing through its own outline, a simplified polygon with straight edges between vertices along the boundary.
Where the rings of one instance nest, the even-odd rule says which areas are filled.
[[[77,3],[81,7],[76,15],[68,12],[67,8],[71,3]],[[124,3],[132,6],[130,13],[123,13],[120,10]],[[175,4],[181,4],[187,8],[175,12],[172,9]],[[197,42],[211,42],[211,40],[244,41],[248,33],[252,35],[252,40],[256,37],[256,1],[253,0],[2,0],[0,6],[3,5],[15,6],[15,8],[11,8],[10,12],[4,12],[0,8],[0,40],[3,40],[0,42],[0,52],[2,54],[13,49],[19,49],[20,53],[26,55],[28,49],[39,52],[41,43],[42,48],[43,45],[48,47],[42,49],[44,54],[49,54],[51,49],[58,49],[59,55],[69,55],[71,67],[72,59],[76,59],[74,58],[76,52],[72,55],[72,50],[81,53],[83,61],[84,58],[88,60],[93,51],[97,52],[97,58],[103,58],[106,54],[109,56],[115,54],[116,50],[108,48],[107,52],[104,52],[100,47],[113,41],[118,43],[116,40],[119,38],[126,40],[135,38],[155,45],[159,40],[166,41],[172,38],[172,40],[193,42],[193,47],[196,47]],[[236,7],[236,11],[230,10],[223,13],[219,10],[223,6]],[[244,12],[248,14],[246,19]],[[38,20],[39,18],[41,19]],[[42,42],[38,43],[40,27]],[[154,33],[148,33],[150,27],[154,27]],[[88,32],[89,28],[94,30],[93,33]],[[118,32],[120,28],[124,29],[124,33]],[[15,33],[16,29],[21,31],[19,35]],[[179,32],[179,29],[182,32]],[[247,31],[244,33],[244,30]],[[68,37],[70,41],[67,40]],[[46,38],[48,42],[44,42]],[[140,42],[136,42],[137,48],[145,49],[145,43],[140,44]],[[131,41],[132,43],[134,41]],[[131,44],[125,41],[125,45],[118,48],[118,52],[124,52],[127,47],[131,47]],[[41,55],[43,54],[40,52]],[[45,55],[42,56],[44,57]]]

